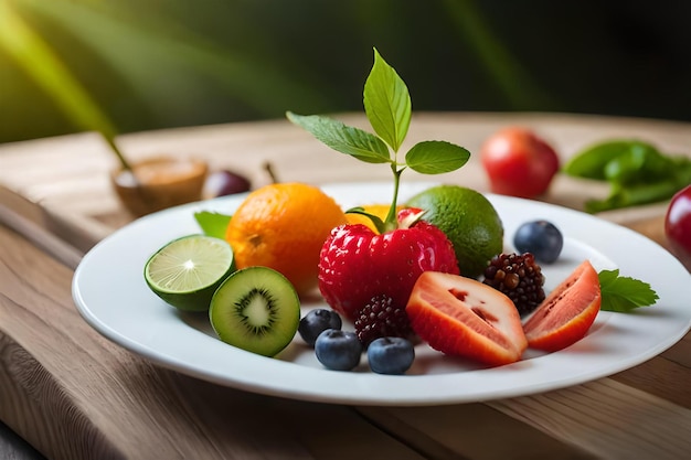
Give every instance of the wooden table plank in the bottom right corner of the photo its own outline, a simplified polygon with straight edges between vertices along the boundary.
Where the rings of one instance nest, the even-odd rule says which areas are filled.
[[[598,458],[674,460],[691,452],[689,408],[609,378],[491,406]]]

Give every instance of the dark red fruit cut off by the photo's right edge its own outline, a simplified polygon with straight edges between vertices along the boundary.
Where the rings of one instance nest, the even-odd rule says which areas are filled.
[[[665,216],[665,235],[671,252],[691,271],[691,185],[672,196]]]

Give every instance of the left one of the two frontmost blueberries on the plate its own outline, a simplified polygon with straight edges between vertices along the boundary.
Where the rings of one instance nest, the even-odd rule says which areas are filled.
[[[350,371],[360,364],[362,343],[354,332],[327,329],[315,342],[317,360],[333,371]]]

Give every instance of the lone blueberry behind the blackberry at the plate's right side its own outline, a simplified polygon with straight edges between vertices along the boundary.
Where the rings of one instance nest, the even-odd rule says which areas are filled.
[[[532,221],[515,231],[513,246],[521,253],[532,253],[539,263],[552,264],[562,254],[564,237],[554,224]]]

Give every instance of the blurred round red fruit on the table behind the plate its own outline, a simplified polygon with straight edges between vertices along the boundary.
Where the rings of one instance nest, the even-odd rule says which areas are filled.
[[[480,160],[492,192],[527,199],[544,193],[560,167],[554,149],[524,128],[506,128],[490,136],[480,149]]]

